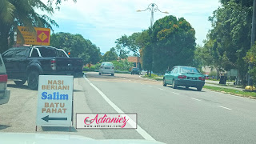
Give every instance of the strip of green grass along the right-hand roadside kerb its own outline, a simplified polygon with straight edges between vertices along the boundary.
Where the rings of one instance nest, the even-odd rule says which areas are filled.
[[[246,92],[246,91],[240,91],[240,90],[234,90],[234,89],[228,89],[228,88],[222,88],[222,87],[215,87],[215,86],[203,86],[203,88],[214,90],[214,91],[220,91],[222,93],[226,94],[234,94],[241,97],[247,97],[247,98],[256,98],[255,92]]]

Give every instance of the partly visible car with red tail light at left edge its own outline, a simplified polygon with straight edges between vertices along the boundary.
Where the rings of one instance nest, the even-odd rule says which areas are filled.
[[[10,99],[10,90],[6,90],[8,76],[6,74],[6,66],[0,55],[0,105],[6,104]]]

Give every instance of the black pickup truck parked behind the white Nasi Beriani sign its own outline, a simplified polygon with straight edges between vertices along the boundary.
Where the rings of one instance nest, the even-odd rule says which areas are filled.
[[[62,49],[52,46],[14,47],[2,53],[8,79],[16,85],[26,81],[32,90],[38,88],[39,75],[74,75],[82,77],[82,58],[69,58]]]

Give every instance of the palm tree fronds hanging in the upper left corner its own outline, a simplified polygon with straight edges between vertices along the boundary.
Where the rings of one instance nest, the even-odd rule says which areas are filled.
[[[17,26],[26,26],[34,31],[34,26],[47,27],[58,24],[46,14],[38,14],[34,9],[54,14],[52,6],[46,6],[41,0],[1,0],[0,1],[0,53],[11,46],[8,38],[14,38]]]

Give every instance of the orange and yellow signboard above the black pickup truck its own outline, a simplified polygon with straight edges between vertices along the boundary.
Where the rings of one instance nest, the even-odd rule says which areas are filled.
[[[18,30],[21,32],[22,37],[24,38],[24,44],[42,46],[50,45],[49,28],[34,27],[34,30],[36,31],[35,34],[24,26],[18,26]],[[22,38],[19,34],[17,35],[17,43],[22,43]]]

